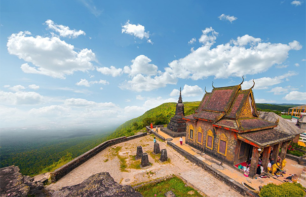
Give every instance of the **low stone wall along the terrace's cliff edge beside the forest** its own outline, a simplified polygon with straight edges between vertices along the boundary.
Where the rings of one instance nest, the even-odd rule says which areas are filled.
[[[87,160],[89,160],[93,156],[97,155],[98,153],[100,153],[102,150],[106,149],[109,146],[113,146],[113,145],[121,143],[121,142],[125,142],[125,141],[129,141],[129,140],[136,139],[136,138],[139,138],[139,137],[143,137],[143,136],[146,136],[147,134],[148,134],[147,132],[144,132],[144,133],[140,133],[140,134],[133,135],[133,136],[130,136],[130,137],[123,136],[123,137],[118,137],[118,138],[115,138],[115,139],[105,141],[105,142],[99,144],[98,146],[94,147],[93,149],[90,149],[86,153],[84,153],[84,154],[78,156],[77,158],[73,159],[72,161],[68,162],[67,164],[62,165],[59,168],[57,168],[56,170],[54,170],[53,172],[51,172],[50,173],[51,180],[52,180],[52,182],[58,181],[59,179],[64,177],[66,174],[71,172],[73,169],[75,169],[77,166],[83,164],[84,162],[86,162]]]

